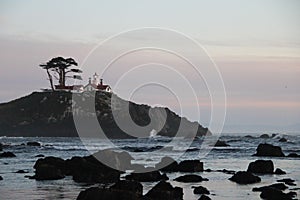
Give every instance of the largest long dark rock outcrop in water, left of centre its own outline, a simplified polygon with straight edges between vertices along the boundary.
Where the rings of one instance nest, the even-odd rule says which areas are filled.
[[[103,150],[95,155],[107,153],[107,151]],[[120,154],[123,155],[122,152],[108,154],[112,164],[122,165],[122,162],[117,159]],[[36,161],[34,169],[35,175],[32,178],[36,180],[55,180],[72,176],[74,181],[83,183],[114,183],[119,181],[121,174],[120,171],[99,162],[93,155],[73,157],[68,160],[57,157],[40,158]]]

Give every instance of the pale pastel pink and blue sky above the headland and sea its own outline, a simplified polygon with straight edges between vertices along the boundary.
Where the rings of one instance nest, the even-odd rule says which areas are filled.
[[[227,95],[224,132],[300,132],[299,10],[298,0],[2,0],[0,102],[48,88],[46,74],[38,65],[52,57],[73,57],[81,64],[97,44],[112,35],[160,27],[193,38],[217,64]],[[138,45],[147,38],[147,35],[124,37],[96,59],[90,59],[85,63],[88,66],[85,66],[83,83],[110,51]],[[168,42],[170,47],[181,47],[197,56],[188,46],[172,38]],[[179,71],[183,66],[173,56],[142,51],[126,57],[122,62],[126,64],[122,67],[116,64],[103,78],[113,84],[121,68],[129,70],[133,64],[148,63],[151,59],[168,63]],[[173,86],[178,84],[164,69],[159,75],[150,71],[149,76],[143,76],[145,71],[137,72],[136,79],[157,75],[156,78],[168,80]],[[190,76],[187,78],[192,85],[197,85],[193,72],[183,71]],[[116,88],[124,98],[126,88],[134,84],[127,83]],[[202,94],[197,96],[200,105],[183,98],[179,107],[174,95],[157,86],[139,89],[132,100],[168,106],[177,113],[185,110],[182,114],[188,119],[208,125],[211,106],[204,85],[199,81],[195,86]],[[185,91],[181,84],[176,88]],[[196,106],[200,107],[201,119],[195,113]]]

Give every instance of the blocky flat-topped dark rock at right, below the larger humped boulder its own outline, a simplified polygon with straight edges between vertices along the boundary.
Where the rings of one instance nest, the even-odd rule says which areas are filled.
[[[256,160],[249,164],[247,171],[258,174],[273,174],[274,164],[272,160]]]

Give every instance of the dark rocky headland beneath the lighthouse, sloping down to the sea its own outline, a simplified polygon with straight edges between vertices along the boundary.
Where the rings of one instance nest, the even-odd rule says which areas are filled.
[[[93,119],[98,120],[109,138],[148,137],[153,130],[158,131],[158,135],[173,137],[179,125],[179,136],[188,137],[195,131],[198,136],[210,134],[207,128],[179,117],[168,108],[138,105],[112,95],[114,94],[85,92],[72,97],[69,92],[34,92],[0,104],[0,136],[76,137],[75,118],[84,122],[80,131],[84,131],[86,136],[92,136],[96,131],[89,125]],[[129,113],[126,112],[126,106],[129,106]],[[121,130],[116,119],[126,122],[123,119],[128,116],[143,129],[135,129],[128,123],[125,132],[130,134]]]

